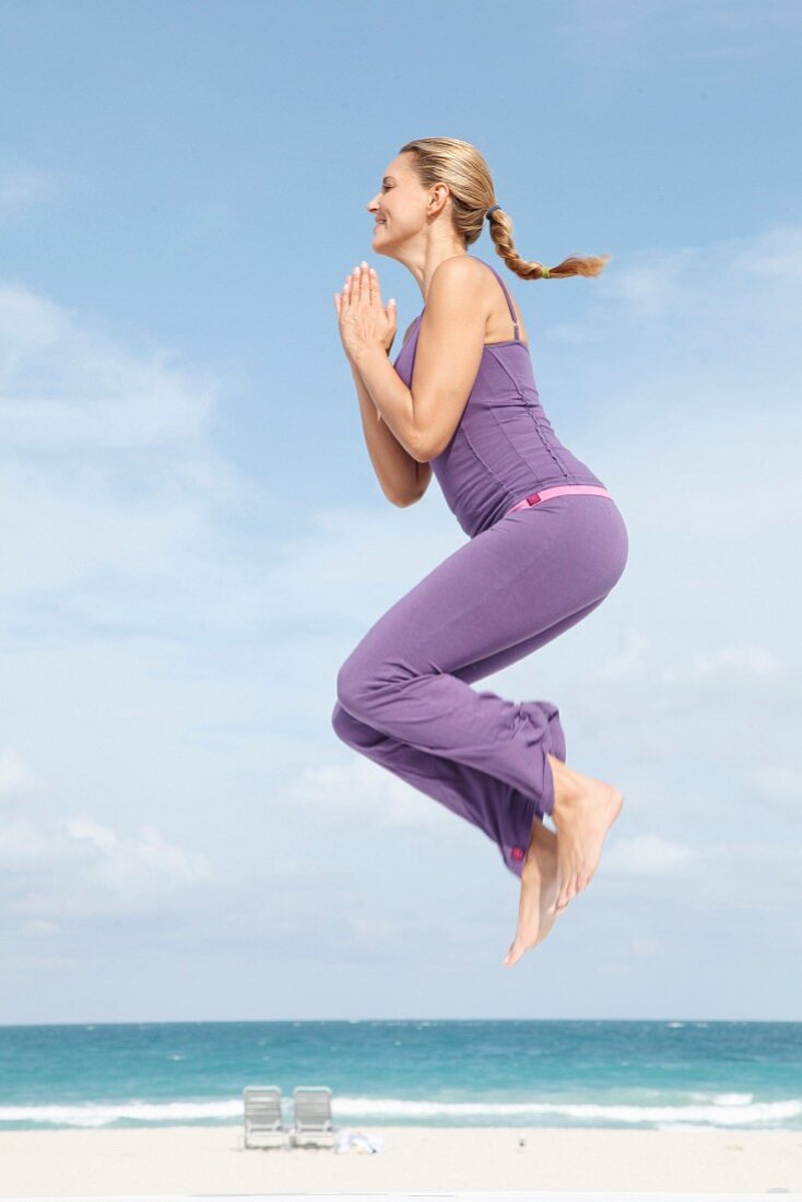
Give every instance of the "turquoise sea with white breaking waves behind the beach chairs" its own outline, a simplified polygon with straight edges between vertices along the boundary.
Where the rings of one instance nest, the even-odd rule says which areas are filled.
[[[239,1124],[328,1085],[351,1125],[802,1130],[802,1023],[0,1027],[0,1130]]]

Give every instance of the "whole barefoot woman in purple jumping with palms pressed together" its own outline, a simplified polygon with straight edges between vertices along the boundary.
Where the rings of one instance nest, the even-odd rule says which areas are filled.
[[[522,260],[487,163],[455,138],[402,147],[368,212],[375,252],[408,267],[424,300],[391,363],[396,303],[384,307],[375,270],[363,262],[334,296],[370,460],[400,506],[434,472],[470,537],[347,657],[332,725],[497,844],[521,880],[509,966],[588,886],[623,796],[565,764],[551,702],[516,704],[471,684],[592,613],[620,578],[629,541],[616,502],[540,405],[506,285],[467,248],[487,216],[521,279],[598,275],[610,256],[551,270]]]

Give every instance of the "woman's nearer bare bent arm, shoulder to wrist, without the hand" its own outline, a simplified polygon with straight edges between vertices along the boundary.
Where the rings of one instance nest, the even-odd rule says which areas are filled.
[[[487,307],[483,280],[467,256],[446,258],[429,285],[411,388],[382,346],[356,352],[356,368],[376,410],[418,464],[451,441],[482,359]]]

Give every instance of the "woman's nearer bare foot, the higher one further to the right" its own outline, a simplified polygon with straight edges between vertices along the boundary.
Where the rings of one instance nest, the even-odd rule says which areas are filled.
[[[554,776],[558,889],[552,912],[568,905],[593,880],[607,831],[624,804],[624,795],[613,785],[586,776],[553,755],[548,762]]]

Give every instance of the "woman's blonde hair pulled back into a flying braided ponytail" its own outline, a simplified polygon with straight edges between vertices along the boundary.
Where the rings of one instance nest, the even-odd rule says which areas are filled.
[[[476,147],[459,138],[415,138],[398,153],[412,156],[412,168],[423,188],[432,188],[433,184],[448,188],[455,231],[467,246],[473,245],[482,232],[487,210],[495,204],[491,171]],[[515,249],[512,218],[504,209],[491,214],[489,232],[495,254],[522,280],[541,279],[545,272],[551,279],[599,275],[610,262],[610,255],[570,255],[551,268],[529,262]]]

